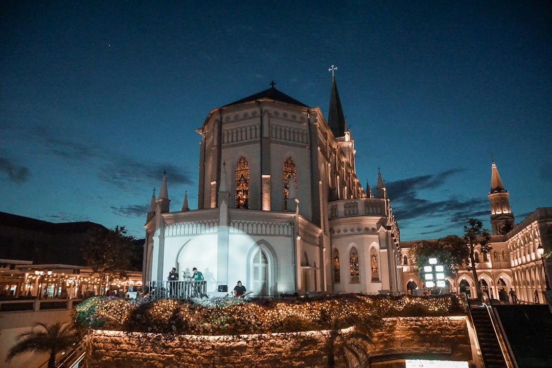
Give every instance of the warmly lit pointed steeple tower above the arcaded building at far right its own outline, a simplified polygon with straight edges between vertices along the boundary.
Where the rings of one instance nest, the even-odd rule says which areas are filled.
[[[491,165],[491,191],[487,195],[491,202],[492,234],[506,234],[516,225],[514,214],[510,209],[509,193],[504,189],[495,161]]]

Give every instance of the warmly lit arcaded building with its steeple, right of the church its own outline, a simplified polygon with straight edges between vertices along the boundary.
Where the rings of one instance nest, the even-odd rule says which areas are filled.
[[[498,292],[513,289],[523,302],[534,302],[537,295],[539,303],[544,302],[545,278],[543,262],[537,248],[544,247],[544,253],[550,252],[550,234],[552,233],[552,208],[538,208],[521,223],[515,225],[514,215],[509,205],[508,191],[504,188],[495,162],[491,166],[491,190],[488,194],[491,206],[491,241],[489,253],[482,253],[480,247],[475,250],[477,278],[482,290],[499,299]],[[401,242],[404,254],[403,287],[410,281],[418,288],[423,283],[414,273],[410,248],[418,241]],[[544,262],[545,267],[548,263]],[[547,275],[550,275],[547,268]],[[448,287],[453,291],[466,291],[472,297],[476,295],[475,280],[465,265],[460,268],[456,279],[448,278]]]

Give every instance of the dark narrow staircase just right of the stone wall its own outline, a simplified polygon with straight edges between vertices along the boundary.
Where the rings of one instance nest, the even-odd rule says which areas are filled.
[[[485,368],[507,368],[487,308],[481,305],[473,305],[470,306],[470,312]]]

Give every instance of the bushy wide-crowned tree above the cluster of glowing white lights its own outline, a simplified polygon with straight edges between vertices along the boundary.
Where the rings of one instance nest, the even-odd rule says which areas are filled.
[[[463,238],[457,235],[448,235],[437,241],[421,241],[415,243],[412,248],[414,270],[418,277],[422,278],[423,266],[429,264],[429,258],[437,258],[437,263],[444,266],[445,275],[455,279],[458,276],[458,268],[469,258],[468,247]]]

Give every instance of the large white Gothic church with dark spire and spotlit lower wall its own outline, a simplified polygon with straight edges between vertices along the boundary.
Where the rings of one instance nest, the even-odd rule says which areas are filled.
[[[169,209],[163,176],[147,213],[144,282],[196,267],[210,295],[241,280],[256,296],[402,291],[399,227],[378,173],[355,173],[332,77],[328,119],[274,87],[210,111],[198,209]]]

